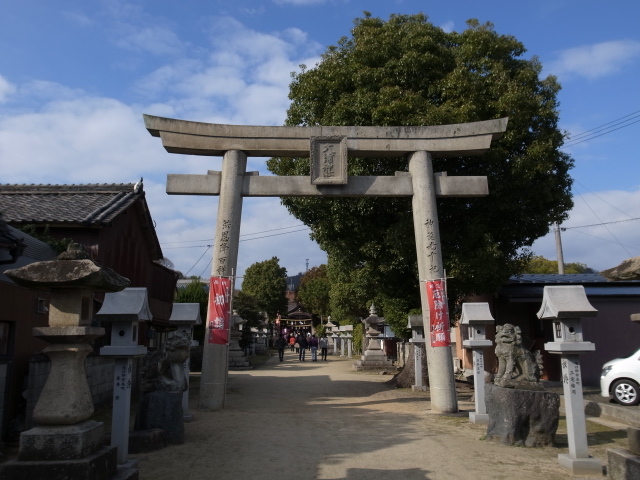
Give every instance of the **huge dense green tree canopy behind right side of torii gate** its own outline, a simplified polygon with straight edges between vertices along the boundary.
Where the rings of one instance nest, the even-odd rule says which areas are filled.
[[[572,159],[560,151],[559,85],[540,78],[524,46],[489,23],[447,33],[419,15],[365,12],[350,37],[312,69],[293,75],[287,125],[442,125],[509,117],[479,157],[437,158],[435,171],[486,175],[485,198],[438,201],[442,252],[455,304],[492,292],[520,271],[533,241],[572,206]],[[278,175],[308,175],[307,158],[273,158]],[[406,159],[350,158],[350,175],[407,171]],[[331,311],[366,316],[419,306],[411,202],[402,198],[287,198],[329,256]],[[399,310],[398,310],[399,309]],[[402,318],[400,315],[398,318]],[[404,317],[406,322],[406,317]],[[398,327],[400,327],[398,325]]]

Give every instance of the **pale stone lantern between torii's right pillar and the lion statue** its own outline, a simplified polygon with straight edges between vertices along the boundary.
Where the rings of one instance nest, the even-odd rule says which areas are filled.
[[[489,415],[484,400],[484,352],[483,348],[492,345],[487,340],[485,326],[494,323],[488,303],[463,303],[460,323],[466,325],[469,339],[462,342],[464,348],[473,351],[473,388],[475,391],[476,411],[469,412],[471,423],[488,423]]]

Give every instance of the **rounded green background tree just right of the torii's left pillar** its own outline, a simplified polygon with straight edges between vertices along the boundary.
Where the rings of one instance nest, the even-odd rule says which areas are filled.
[[[242,291],[255,298],[270,320],[287,312],[287,269],[279,262],[278,257],[272,257],[254,263],[247,268],[242,281]]]

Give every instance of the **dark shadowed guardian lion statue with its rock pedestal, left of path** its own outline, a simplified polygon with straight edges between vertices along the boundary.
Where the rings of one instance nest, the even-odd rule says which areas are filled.
[[[191,337],[178,330],[161,350],[150,352],[144,358],[136,431],[160,428],[166,432],[169,443],[184,443],[182,395],[188,385],[184,362],[190,350]]]

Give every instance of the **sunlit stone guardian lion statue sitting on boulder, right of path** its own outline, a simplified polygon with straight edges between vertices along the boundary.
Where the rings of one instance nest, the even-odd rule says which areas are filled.
[[[510,323],[496,327],[496,356],[498,373],[494,383],[504,388],[541,390],[542,356],[522,346],[520,327]]]

